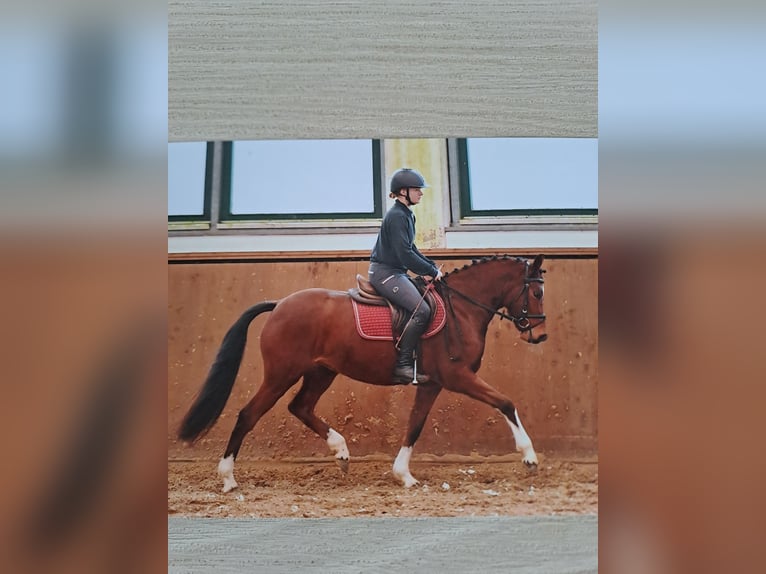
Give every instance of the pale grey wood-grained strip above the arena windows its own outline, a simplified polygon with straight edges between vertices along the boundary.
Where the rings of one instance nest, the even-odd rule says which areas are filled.
[[[170,141],[596,137],[598,4],[168,4]]]

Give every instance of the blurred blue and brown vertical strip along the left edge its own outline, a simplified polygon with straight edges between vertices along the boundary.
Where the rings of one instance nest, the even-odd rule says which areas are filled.
[[[166,6],[2,12],[0,570],[164,570]]]

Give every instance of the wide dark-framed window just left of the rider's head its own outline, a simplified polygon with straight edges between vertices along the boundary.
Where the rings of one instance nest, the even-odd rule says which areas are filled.
[[[222,221],[382,217],[379,141],[227,142],[223,173]]]

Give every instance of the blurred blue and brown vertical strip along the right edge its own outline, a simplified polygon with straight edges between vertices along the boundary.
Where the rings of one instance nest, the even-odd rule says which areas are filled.
[[[606,572],[764,567],[764,16],[599,5]]]

